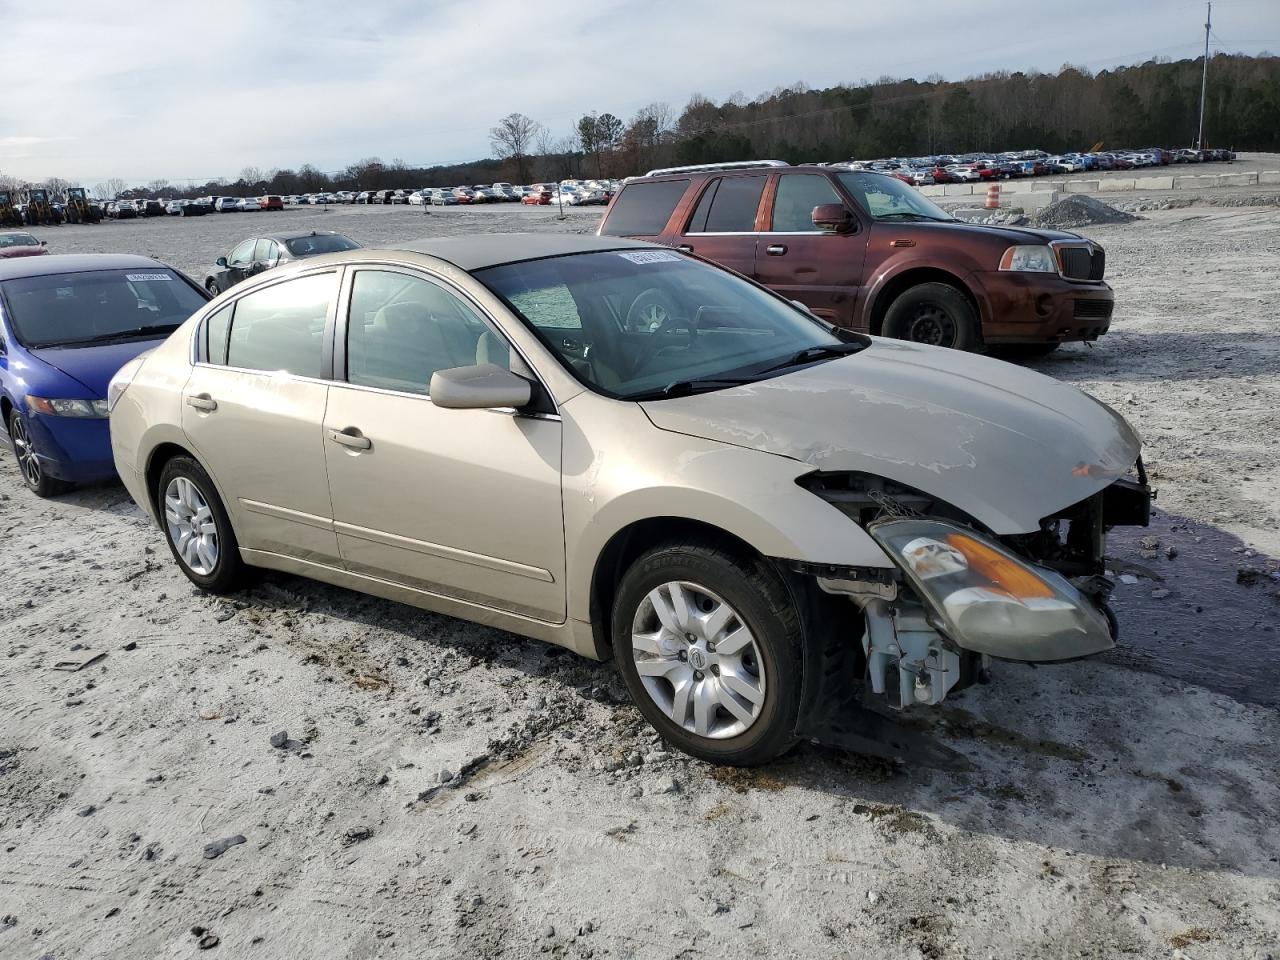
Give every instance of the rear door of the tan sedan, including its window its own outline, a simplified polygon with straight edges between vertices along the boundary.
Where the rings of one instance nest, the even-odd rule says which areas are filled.
[[[321,424],[338,273],[261,287],[206,317],[182,428],[241,547],[338,566]]]

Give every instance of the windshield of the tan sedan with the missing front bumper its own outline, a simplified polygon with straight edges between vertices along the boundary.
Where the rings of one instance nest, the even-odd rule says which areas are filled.
[[[719,389],[780,375],[805,351],[817,361],[856,347],[767,291],[669,251],[577,253],[475,276],[579,380],[622,399]]]

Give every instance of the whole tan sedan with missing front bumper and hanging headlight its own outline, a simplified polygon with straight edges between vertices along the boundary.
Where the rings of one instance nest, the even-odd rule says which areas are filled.
[[[1149,511],[1138,435],[1079,390],[612,237],[276,269],[109,404],[198,586],[288,571],[612,658],[716,763],[928,756],[883,708],[1111,648],[1105,531]]]

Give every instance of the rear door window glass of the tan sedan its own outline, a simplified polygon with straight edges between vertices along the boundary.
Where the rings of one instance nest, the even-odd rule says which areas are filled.
[[[335,274],[278,283],[236,301],[227,364],[298,376],[324,375],[324,328]]]

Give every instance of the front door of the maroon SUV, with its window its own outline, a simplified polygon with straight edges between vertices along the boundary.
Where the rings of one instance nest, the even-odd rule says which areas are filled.
[[[760,234],[755,279],[788,300],[804,303],[838,326],[852,326],[869,236],[854,205],[820,173],[774,174],[769,216]],[[850,233],[829,233],[813,224],[813,209],[844,204],[855,218]]]

